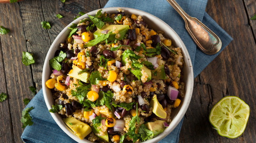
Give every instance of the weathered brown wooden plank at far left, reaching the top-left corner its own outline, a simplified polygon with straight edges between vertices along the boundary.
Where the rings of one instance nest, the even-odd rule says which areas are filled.
[[[22,52],[27,51],[24,29],[20,15],[19,3],[0,5],[0,23],[10,29],[12,37],[1,36],[1,47],[6,73],[6,87],[9,94],[10,113],[13,133],[12,142],[22,142],[20,135],[23,132],[20,122],[21,112],[25,105],[23,99],[32,99],[32,92],[29,87],[33,85],[31,67],[25,66],[21,62]],[[6,113],[8,114],[8,113]],[[6,129],[6,133],[10,132]],[[9,136],[9,135],[7,135]],[[8,142],[8,141],[7,141]]]

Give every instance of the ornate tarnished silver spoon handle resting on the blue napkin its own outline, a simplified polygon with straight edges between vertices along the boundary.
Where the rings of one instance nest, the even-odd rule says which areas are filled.
[[[208,55],[213,55],[220,51],[221,40],[208,27],[194,17],[190,17],[175,2],[175,0],[166,0],[184,19],[185,28],[197,46]]]

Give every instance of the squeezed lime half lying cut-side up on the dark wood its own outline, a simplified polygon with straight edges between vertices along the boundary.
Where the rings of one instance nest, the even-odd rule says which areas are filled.
[[[236,138],[244,132],[249,113],[250,108],[243,100],[227,96],[212,107],[209,120],[219,135]]]

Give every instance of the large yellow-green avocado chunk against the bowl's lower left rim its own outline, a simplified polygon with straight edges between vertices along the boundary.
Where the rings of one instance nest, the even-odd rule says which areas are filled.
[[[92,132],[92,128],[89,125],[73,117],[64,118],[63,121],[80,139],[83,139]]]

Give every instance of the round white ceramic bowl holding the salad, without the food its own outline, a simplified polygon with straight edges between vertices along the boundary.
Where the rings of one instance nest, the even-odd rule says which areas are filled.
[[[103,12],[106,11],[107,13],[116,13],[117,12],[116,9],[117,9],[117,7],[102,8],[102,11]],[[145,143],[155,143],[155,142],[158,142],[161,139],[163,139],[166,135],[170,134],[170,132],[172,130],[174,130],[174,128],[181,121],[182,117],[184,116],[184,114],[188,108],[188,105],[190,103],[191,96],[192,96],[193,82],[194,82],[192,63],[191,63],[190,57],[188,55],[188,51],[187,51],[184,43],[181,41],[180,37],[169,25],[164,23],[159,18],[157,18],[149,13],[146,13],[144,11],[133,9],[133,8],[121,8],[121,9],[123,9],[125,11],[125,14],[141,15],[143,20],[148,24],[148,27],[152,27],[154,30],[164,31],[164,36],[167,38],[170,38],[172,40],[172,43],[176,47],[180,47],[182,49],[183,60],[184,60],[184,66],[182,69],[184,76],[183,76],[182,80],[185,83],[185,97],[183,99],[181,99],[180,106],[172,111],[172,114],[171,114],[172,121],[170,123],[170,126],[168,128],[166,128],[160,135],[154,137],[153,139],[145,141]],[[97,12],[97,10],[89,12],[89,13],[77,18],[72,23],[79,23],[79,20],[82,20],[84,18],[89,18],[88,14],[95,15],[96,12]],[[67,27],[70,27],[72,25],[72,23],[70,23]],[[45,85],[45,82],[50,78],[50,75],[52,73],[52,71],[50,70],[50,66],[49,66],[49,60],[51,58],[53,58],[55,51],[57,49],[59,49],[60,43],[64,42],[65,38],[68,36],[70,29],[68,29],[67,27],[65,27],[60,32],[60,34],[56,37],[56,39],[53,41],[53,44],[51,45],[51,47],[47,53],[47,56],[45,58],[45,62],[44,62],[43,75],[42,75],[42,86],[43,86],[44,99],[45,99],[48,109],[52,109],[52,105],[55,104],[51,90],[49,88],[47,88]],[[73,138],[75,141],[77,141],[79,143],[91,143],[87,139],[80,140],[74,134],[74,132],[71,129],[69,129],[69,127],[62,121],[62,118],[59,116],[58,113],[51,113],[51,115],[52,115],[53,119],[56,121],[56,123],[59,125],[59,127],[67,135],[69,135],[71,138]]]

